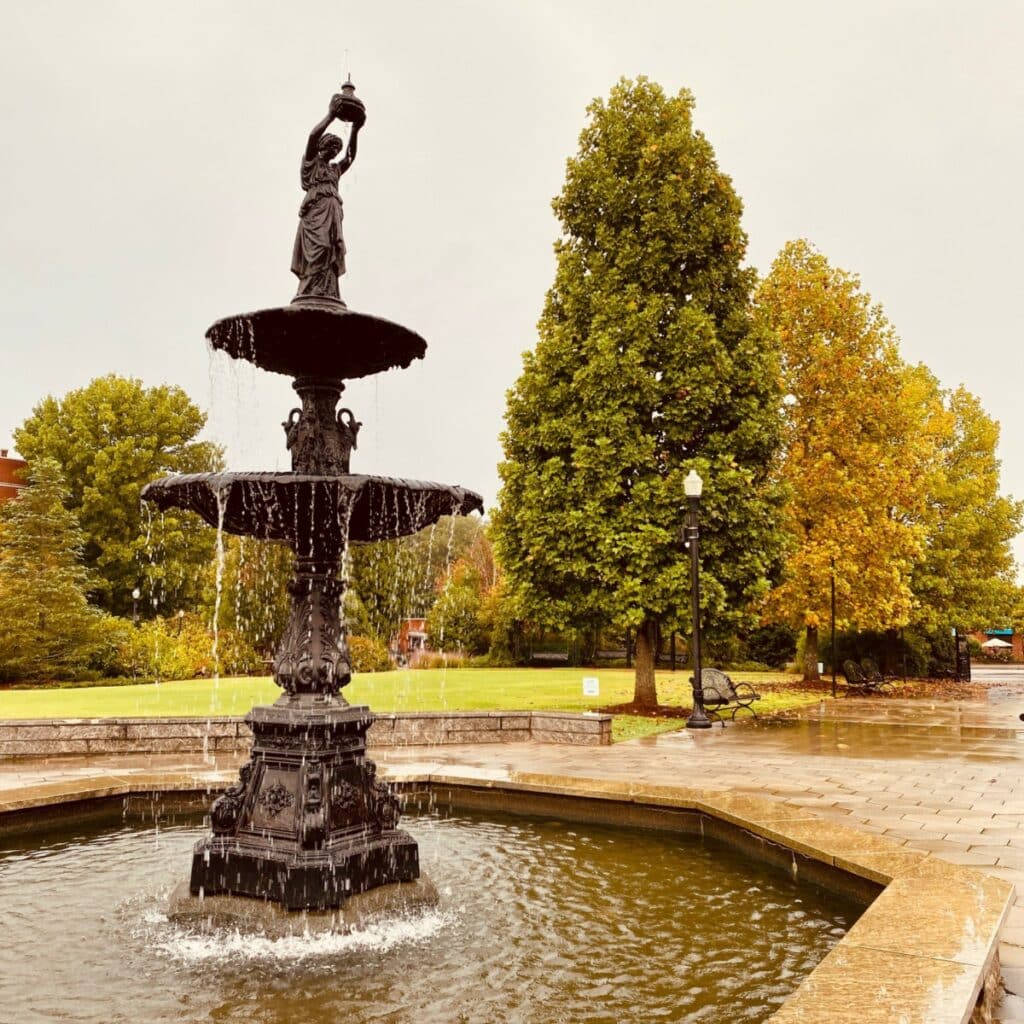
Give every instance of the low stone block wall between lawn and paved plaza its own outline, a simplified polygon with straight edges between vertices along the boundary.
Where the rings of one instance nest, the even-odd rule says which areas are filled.
[[[610,715],[466,711],[377,715],[371,746],[438,743],[611,742]],[[0,759],[75,754],[245,753],[252,732],[241,718],[95,718],[0,721]]]

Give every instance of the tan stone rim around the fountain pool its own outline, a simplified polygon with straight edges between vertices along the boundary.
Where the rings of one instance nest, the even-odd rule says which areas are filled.
[[[381,766],[389,781],[495,797],[532,794],[623,823],[647,809],[724,823],[788,855],[881,888],[850,931],[771,1017],[773,1024],[987,1024],[998,997],[998,934],[1014,887],[889,840],[825,821],[804,808],[728,792],[599,778],[423,766]],[[218,771],[110,775],[0,795],[4,816],[47,806],[147,793],[214,792]],[[713,833],[714,834],[714,833]],[[723,836],[729,842],[728,836]],[[757,855],[757,854],[755,854]],[[776,861],[777,862],[777,861]],[[827,885],[827,882],[824,884]]]

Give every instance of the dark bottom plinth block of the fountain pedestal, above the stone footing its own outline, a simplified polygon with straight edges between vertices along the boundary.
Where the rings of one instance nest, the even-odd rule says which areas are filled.
[[[196,844],[188,889],[194,896],[251,896],[287,910],[328,910],[357,893],[419,877],[416,840],[397,828],[291,853],[212,836]]]

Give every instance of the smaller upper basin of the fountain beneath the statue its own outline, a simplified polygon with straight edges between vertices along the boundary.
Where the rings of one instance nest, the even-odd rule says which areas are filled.
[[[225,316],[206,336],[214,348],[262,370],[335,380],[404,369],[427,350],[415,331],[324,297]]]

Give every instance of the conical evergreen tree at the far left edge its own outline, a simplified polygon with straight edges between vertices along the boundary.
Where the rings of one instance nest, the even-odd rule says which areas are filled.
[[[65,497],[59,466],[44,458],[32,463],[30,486],[0,505],[0,674],[8,679],[68,675],[103,642]]]

